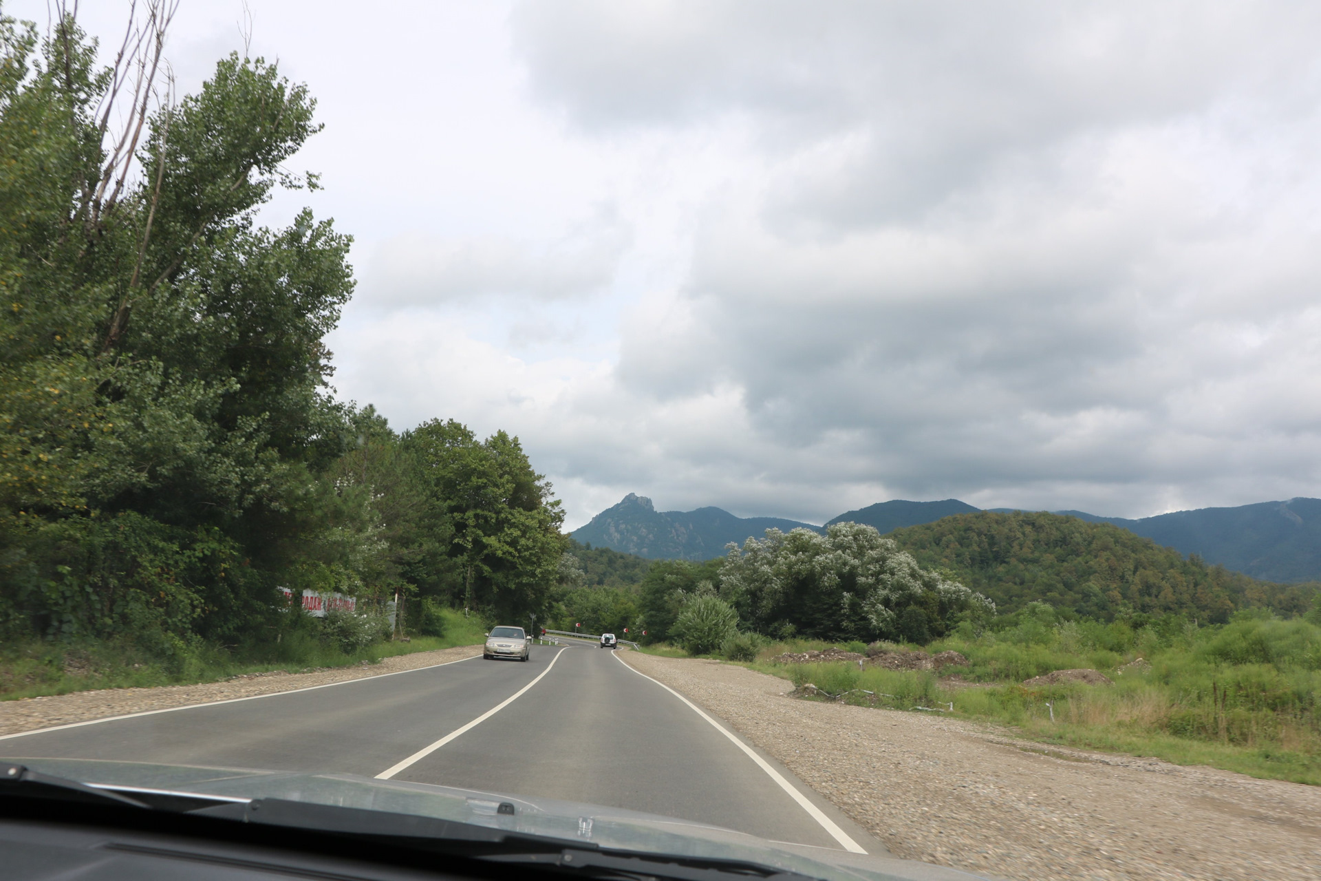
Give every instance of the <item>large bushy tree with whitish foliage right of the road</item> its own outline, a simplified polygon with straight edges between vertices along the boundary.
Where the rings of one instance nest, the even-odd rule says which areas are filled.
[[[995,612],[991,600],[923,569],[871,526],[836,523],[826,535],[766,530],[764,539],[728,547],[720,594],[777,635],[922,642],[962,614]]]

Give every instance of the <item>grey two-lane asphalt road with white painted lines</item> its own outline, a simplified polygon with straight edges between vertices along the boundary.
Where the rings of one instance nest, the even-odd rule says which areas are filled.
[[[476,658],[36,733],[0,742],[0,754],[375,777],[505,703],[543,672],[493,716],[394,778],[589,802],[770,840],[840,847],[711,722],[593,645],[534,646],[527,663]],[[860,827],[762,758],[865,849],[878,852]]]

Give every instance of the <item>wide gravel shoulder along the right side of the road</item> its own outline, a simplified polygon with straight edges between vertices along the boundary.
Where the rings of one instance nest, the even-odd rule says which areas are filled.
[[[789,697],[716,660],[621,652],[783,762],[896,857],[1021,878],[1321,878],[1321,787]]]

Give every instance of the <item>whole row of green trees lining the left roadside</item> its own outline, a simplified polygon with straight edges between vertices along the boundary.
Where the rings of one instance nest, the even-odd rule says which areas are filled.
[[[288,646],[303,589],[432,629],[421,598],[546,608],[563,515],[518,439],[330,395],[350,239],[256,222],[317,186],[288,170],[308,90],[231,54],[152,108],[166,22],[143,24],[118,70],[71,16],[0,24],[0,643]]]

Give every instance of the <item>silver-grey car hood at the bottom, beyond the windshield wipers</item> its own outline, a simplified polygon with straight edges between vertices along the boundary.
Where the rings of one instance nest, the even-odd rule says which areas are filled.
[[[766,841],[703,823],[601,804],[485,793],[353,774],[297,774],[193,765],[94,759],[12,758],[34,770],[85,783],[196,793],[232,799],[279,798],[373,811],[413,814],[514,833],[564,839],[567,844],[745,860],[830,881],[970,881],[980,876],[946,866],[830,848]],[[514,814],[499,814],[502,802]]]

